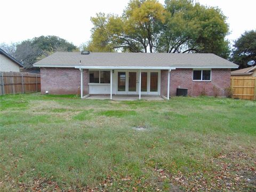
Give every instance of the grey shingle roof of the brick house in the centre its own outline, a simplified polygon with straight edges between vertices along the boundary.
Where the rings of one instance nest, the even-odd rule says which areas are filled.
[[[81,61],[81,63],[79,63]],[[56,52],[34,67],[75,68],[237,68],[212,53],[90,53]]]

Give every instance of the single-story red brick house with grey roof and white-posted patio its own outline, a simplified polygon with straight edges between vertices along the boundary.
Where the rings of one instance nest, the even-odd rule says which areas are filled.
[[[238,66],[210,53],[57,52],[34,64],[41,68],[41,92],[50,94],[159,95],[169,99],[177,87],[197,96],[213,86],[230,86]]]

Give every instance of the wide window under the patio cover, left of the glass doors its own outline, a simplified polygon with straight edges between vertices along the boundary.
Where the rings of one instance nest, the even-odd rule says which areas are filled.
[[[99,83],[99,84],[110,83],[110,71],[90,70],[89,83]]]

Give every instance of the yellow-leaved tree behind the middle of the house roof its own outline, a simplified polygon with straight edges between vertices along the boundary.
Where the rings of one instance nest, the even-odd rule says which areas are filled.
[[[163,5],[156,0],[131,1],[121,17],[99,13],[91,18],[91,43],[105,47],[105,51],[153,52],[158,22],[164,22],[164,13]]]

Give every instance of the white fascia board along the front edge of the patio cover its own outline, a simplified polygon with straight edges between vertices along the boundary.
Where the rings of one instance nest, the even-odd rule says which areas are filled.
[[[75,66],[77,69],[175,69],[175,67]]]

